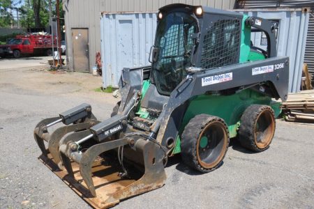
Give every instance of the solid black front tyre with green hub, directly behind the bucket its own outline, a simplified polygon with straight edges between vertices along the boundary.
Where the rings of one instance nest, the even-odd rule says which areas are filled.
[[[227,153],[229,132],[222,118],[200,114],[190,120],[181,135],[181,156],[197,171],[214,171]]]

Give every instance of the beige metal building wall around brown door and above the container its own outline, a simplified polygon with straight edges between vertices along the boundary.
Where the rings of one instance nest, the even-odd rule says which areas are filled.
[[[66,47],[68,68],[73,69],[72,28],[89,29],[89,71],[95,64],[96,52],[100,52],[100,15],[107,13],[149,13],[170,3],[211,6],[233,9],[235,0],[63,0],[66,22]]]

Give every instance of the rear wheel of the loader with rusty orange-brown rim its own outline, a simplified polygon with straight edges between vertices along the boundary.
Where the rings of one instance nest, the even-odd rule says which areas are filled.
[[[241,116],[239,141],[249,150],[262,152],[269,148],[275,128],[274,110],[267,105],[252,104]]]

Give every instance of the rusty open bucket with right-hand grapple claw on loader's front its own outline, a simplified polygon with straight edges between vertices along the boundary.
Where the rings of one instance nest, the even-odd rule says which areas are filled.
[[[70,148],[73,141],[69,139],[77,136],[70,135],[63,137],[59,149],[66,169],[54,170],[45,156],[40,159],[94,208],[109,208],[130,196],[164,185],[165,153],[155,142],[127,137],[73,151]]]

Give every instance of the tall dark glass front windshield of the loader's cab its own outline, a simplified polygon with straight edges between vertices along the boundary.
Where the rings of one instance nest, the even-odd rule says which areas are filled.
[[[154,82],[159,93],[170,95],[186,76],[193,53],[193,33],[197,22],[188,13],[170,13],[160,20],[152,65]]]

